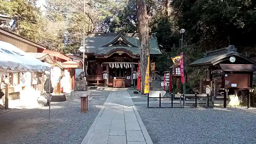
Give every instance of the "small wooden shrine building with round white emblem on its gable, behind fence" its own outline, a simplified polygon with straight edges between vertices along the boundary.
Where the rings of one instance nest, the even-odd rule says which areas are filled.
[[[253,72],[256,71],[255,65],[255,61],[238,53],[237,48],[233,45],[206,52],[203,58],[189,64],[191,67],[208,66],[207,75],[209,78],[206,80],[209,82],[208,85],[211,90],[214,90],[214,99],[224,97],[224,107],[227,91],[231,95],[238,95],[238,91],[243,91],[248,95],[249,90],[253,89],[252,77]],[[212,89],[213,77],[216,80],[214,81],[214,89]]]

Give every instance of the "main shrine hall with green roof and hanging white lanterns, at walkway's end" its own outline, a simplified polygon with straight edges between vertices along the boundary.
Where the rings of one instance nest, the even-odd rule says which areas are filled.
[[[151,36],[150,60],[161,55],[157,38]],[[78,53],[83,56],[83,42]],[[103,71],[108,78],[107,86],[131,87],[132,72],[138,71],[140,41],[136,33],[90,33],[85,38],[85,55],[89,85],[104,85]]]

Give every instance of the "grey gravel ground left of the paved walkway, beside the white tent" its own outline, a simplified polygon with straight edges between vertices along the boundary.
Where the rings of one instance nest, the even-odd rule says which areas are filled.
[[[80,99],[51,103],[48,107],[18,109],[0,115],[1,144],[80,144],[93,124],[109,91],[91,92],[89,112],[80,113]]]

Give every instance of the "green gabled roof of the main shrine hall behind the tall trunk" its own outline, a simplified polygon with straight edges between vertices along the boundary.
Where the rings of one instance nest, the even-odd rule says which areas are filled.
[[[85,53],[106,54],[118,46],[111,46],[111,43],[117,39],[123,39],[128,46],[120,48],[129,50],[132,54],[140,54],[140,41],[138,34],[116,34],[116,33],[93,33],[85,38]],[[149,39],[150,54],[162,54],[159,50],[156,38]],[[79,52],[83,52],[83,41],[81,42]]]

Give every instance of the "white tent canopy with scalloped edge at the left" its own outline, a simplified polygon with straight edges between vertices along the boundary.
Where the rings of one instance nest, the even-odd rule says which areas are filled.
[[[0,72],[45,72],[51,67],[8,42],[0,41]]]

